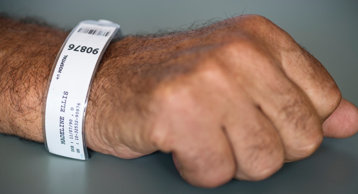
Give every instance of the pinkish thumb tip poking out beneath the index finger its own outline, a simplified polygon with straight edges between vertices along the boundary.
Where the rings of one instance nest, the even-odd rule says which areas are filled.
[[[332,138],[347,138],[358,131],[358,109],[342,98],[338,108],[322,124],[323,135]]]

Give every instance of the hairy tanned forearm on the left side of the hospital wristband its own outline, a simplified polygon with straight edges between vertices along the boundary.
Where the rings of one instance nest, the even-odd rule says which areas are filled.
[[[48,76],[68,33],[0,19],[0,132],[43,141]]]

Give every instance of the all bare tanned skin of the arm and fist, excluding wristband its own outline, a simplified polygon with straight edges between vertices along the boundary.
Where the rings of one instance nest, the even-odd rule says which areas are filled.
[[[42,103],[68,33],[0,19],[0,132],[43,142]],[[88,148],[120,158],[172,152],[202,187],[262,180],[358,130],[323,65],[284,30],[243,15],[193,31],[111,43],[93,81]]]

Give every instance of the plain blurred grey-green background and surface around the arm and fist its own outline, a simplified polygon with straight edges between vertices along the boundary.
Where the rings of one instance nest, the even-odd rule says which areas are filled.
[[[120,24],[124,34],[188,28],[195,21],[200,24],[242,12],[260,14],[310,50],[336,80],[343,96],[355,105],[357,10],[357,0],[0,0],[0,12],[13,16],[36,16],[64,29],[86,19],[107,19]],[[232,180],[216,189],[187,184],[168,154],[125,160],[92,153],[83,162],[49,154],[43,144],[0,135],[0,193],[100,192],[357,194],[358,135],[326,138],[315,154],[285,164],[269,179]]]

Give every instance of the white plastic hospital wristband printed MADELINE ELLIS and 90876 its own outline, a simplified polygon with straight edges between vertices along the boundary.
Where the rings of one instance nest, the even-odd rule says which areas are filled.
[[[45,91],[43,136],[53,154],[89,158],[84,133],[87,100],[98,64],[120,26],[107,20],[81,21],[67,36]]]

